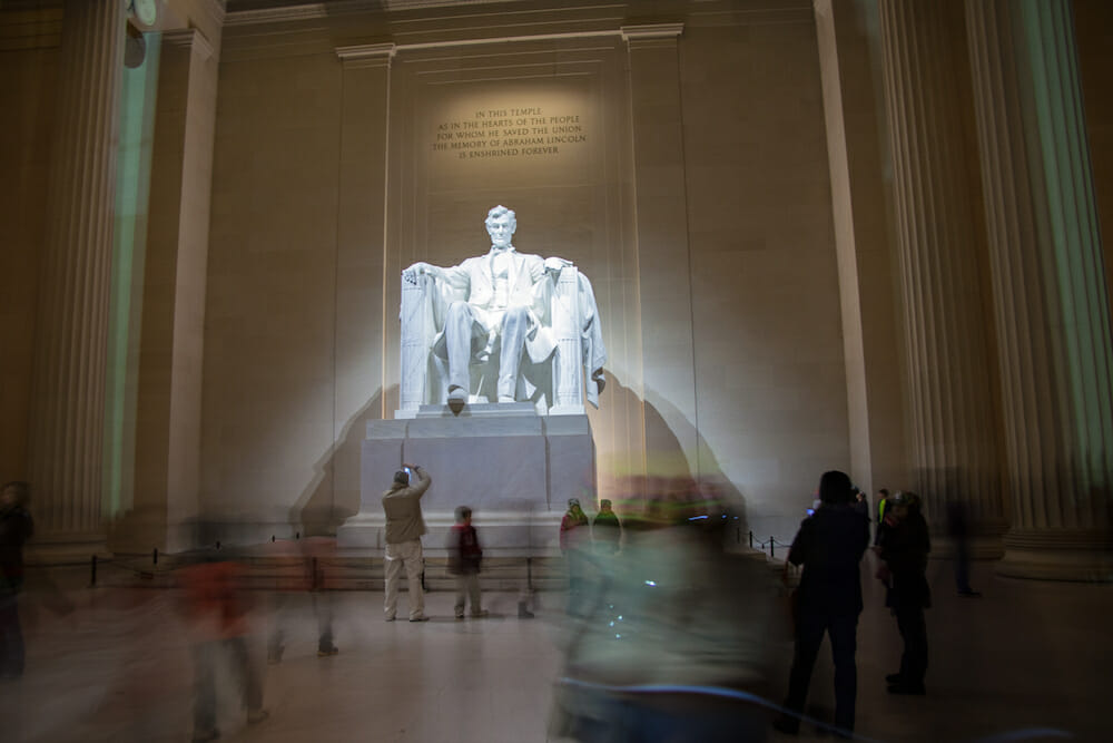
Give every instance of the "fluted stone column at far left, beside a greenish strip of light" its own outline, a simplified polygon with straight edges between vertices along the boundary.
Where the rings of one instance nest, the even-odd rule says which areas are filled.
[[[101,473],[124,3],[68,0],[40,264],[29,471],[42,542],[102,542]]]

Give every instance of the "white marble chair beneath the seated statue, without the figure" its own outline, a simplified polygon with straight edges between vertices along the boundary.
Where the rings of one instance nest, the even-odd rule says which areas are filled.
[[[538,291],[545,312],[526,340],[515,400],[532,403],[541,416],[582,414],[584,378],[588,400],[598,407],[597,380],[607,359],[591,282],[569,264],[550,272]],[[414,281],[402,277],[402,379],[395,418],[415,418],[423,404],[447,402],[447,361],[435,346],[449,306],[464,299],[427,274]],[[498,340],[491,349],[473,344],[470,369],[469,403],[495,402]]]

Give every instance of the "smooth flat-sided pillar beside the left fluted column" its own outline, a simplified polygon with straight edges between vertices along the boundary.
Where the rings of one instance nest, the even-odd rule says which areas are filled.
[[[135,512],[116,536],[136,551],[196,545],[217,68],[217,49],[200,30],[162,33],[139,329]]]

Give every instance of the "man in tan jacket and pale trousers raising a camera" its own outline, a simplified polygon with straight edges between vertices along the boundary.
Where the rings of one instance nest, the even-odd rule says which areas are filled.
[[[391,489],[383,493],[383,510],[386,511],[386,604],[387,622],[394,622],[398,607],[398,581],[402,568],[406,569],[410,587],[410,620],[427,622],[425,616],[425,594],[421,587],[422,551],[421,536],[425,534],[425,520],[421,515],[421,497],[429,490],[432,480],[429,472],[416,465],[402,465],[394,473]],[[417,482],[412,480],[416,476]]]

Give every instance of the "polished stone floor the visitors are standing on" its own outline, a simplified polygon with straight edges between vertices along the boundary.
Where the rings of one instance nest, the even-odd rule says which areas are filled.
[[[954,594],[947,563],[933,561],[930,577],[924,697],[887,695],[883,678],[896,668],[899,638],[873,581],[865,581],[860,737],[1113,740],[1113,588],[996,578],[979,565],[975,581],[984,597],[971,599]],[[434,592],[424,624],[384,623],[380,593],[331,596],[341,648],[333,657],[317,657],[306,604],[295,612],[282,662],[266,665],[268,617],[258,613],[254,646],[270,716],[247,726],[224,673],[221,740],[553,740],[546,721],[567,632],[560,594],[539,594],[534,619],[518,618],[516,595],[489,594],[491,616],[456,622],[452,595]],[[102,586],[40,589],[24,599],[27,672],[0,682],[0,741],[189,740],[191,665],[178,592]],[[781,649],[787,666],[790,648]],[[829,718],[827,656],[825,648],[809,705]],[[801,730],[800,740],[820,737],[809,725]],[[769,740],[789,739],[770,732]]]

